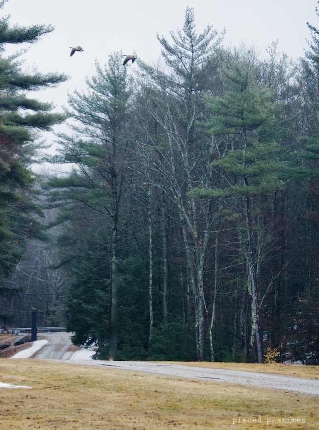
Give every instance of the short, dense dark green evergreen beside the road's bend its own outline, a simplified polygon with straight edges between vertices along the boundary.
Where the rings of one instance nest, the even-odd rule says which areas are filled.
[[[72,279],[66,299],[66,329],[74,333],[75,345],[97,345],[99,355],[107,358],[107,349],[103,350],[108,340],[110,299],[106,247],[95,223],[86,219],[83,212],[82,216],[74,212],[69,212],[73,216],[72,225],[57,241],[60,264]],[[67,254],[63,249],[68,249]]]

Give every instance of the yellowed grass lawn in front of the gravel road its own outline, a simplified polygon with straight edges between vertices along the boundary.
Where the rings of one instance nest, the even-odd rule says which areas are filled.
[[[319,429],[318,399],[281,390],[36,359],[0,371],[32,387],[0,388],[1,430]]]

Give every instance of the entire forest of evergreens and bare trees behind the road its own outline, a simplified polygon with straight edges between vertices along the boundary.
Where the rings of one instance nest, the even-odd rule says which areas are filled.
[[[0,3],[3,6],[3,1]],[[316,10],[315,17],[319,17]],[[312,20],[312,17],[309,18]],[[113,52],[68,110],[30,96],[7,44],[48,26],[0,20],[0,320],[65,325],[117,360],[319,363],[319,30],[303,58],[223,32]],[[38,135],[67,121],[54,156]],[[67,165],[36,174],[32,163]]]

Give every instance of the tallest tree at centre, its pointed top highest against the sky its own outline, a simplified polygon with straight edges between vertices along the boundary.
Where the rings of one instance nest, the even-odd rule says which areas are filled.
[[[211,202],[196,202],[187,192],[203,184],[209,186],[212,181],[213,142],[202,131],[205,107],[201,92],[223,33],[218,36],[208,26],[198,34],[193,9],[186,8],[183,28],[177,34],[170,32],[170,36],[172,43],[158,36],[165,67],[141,65],[152,81],[151,97],[144,108],[156,124],[156,133],[145,124],[140,123],[140,127],[144,133],[143,146],[149,149],[147,154],[152,154],[151,168],[160,172],[168,207],[174,205],[179,214],[194,304],[197,358],[204,360],[208,312],[204,271],[213,210]]]

